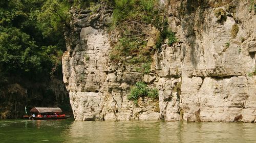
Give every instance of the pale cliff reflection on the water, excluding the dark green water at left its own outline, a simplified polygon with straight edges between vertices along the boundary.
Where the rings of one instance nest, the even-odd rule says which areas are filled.
[[[186,122],[73,122],[67,142],[256,142],[256,125]]]

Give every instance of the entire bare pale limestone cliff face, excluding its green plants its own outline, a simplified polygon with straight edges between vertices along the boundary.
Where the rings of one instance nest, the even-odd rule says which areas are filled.
[[[110,62],[104,24],[111,12],[73,13],[62,64],[75,119],[254,122],[256,76],[248,73],[256,65],[256,16],[250,1],[161,3],[179,42],[162,45],[147,75]],[[159,90],[159,101],[127,100],[141,80]]]

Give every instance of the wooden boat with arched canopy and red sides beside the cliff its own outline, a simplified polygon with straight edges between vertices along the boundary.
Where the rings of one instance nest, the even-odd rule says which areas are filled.
[[[62,110],[58,107],[34,107],[30,110],[30,112],[32,115],[24,116],[24,118],[30,120],[58,120],[70,118],[70,116],[64,115]]]

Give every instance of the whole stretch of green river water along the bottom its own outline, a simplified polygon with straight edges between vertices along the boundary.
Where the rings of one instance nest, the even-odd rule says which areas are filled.
[[[256,124],[0,120],[0,142],[256,142]]]

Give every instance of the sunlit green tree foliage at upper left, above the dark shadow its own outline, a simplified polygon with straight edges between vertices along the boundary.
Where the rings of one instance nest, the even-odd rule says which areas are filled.
[[[1,74],[35,80],[47,79],[55,71],[61,75],[67,12],[65,0],[1,1]]]

